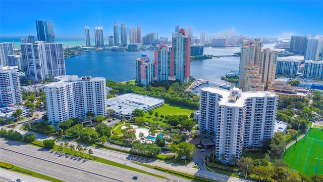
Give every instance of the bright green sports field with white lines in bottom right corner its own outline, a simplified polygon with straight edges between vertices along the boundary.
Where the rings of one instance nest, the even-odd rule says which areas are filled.
[[[284,161],[307,176],[323,174],[323,129],[311,128],[306,137],[286,150]],[[321,159],[321,160],[319,160]]]

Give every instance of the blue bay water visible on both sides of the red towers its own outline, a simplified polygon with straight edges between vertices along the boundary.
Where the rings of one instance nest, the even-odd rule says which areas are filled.
[[[240,48],[204,48],[204,54],[230,55]],[[127,81],[136,77],[136,59],[146,54],[154,60],[154,51],[114,52],[88,51],[82,55],[65,59],[66,73],[78,76],[104,77],[106,80]],[[231,69],[239,69],[239,58],[222,57],[191,61],[190,75],[194,78],[209,80],[204,86],[217,86],[224,83],[225,76]]]

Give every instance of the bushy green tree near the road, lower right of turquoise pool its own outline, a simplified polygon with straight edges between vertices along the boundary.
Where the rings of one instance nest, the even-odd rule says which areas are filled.
[[[177,160],[181,160],[181,157],[186,156],[186,158],[191,159],[192,155],[195,153],[196,149],[193,144],[188,142],[182,142],[179,144],[172,144],[169,150],[177,154]]]

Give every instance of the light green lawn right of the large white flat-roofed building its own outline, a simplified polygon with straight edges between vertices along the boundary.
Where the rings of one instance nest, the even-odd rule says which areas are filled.
[[[170,104],[165,104],[164,106],[158,107],[153,110],[153,114],[150,116],[148,112],[145,113],[144,118],[147,119],[149,122],[156,122],[153,121],[155,118],[155,113],[157,112],[159,115],[159,125],[166,125],[165,118],[160,119],[160,115],[187,115],[190,116],[192,112],[196,110],[188,109],[182,106],[176,106],[176,105],[170,105]]]

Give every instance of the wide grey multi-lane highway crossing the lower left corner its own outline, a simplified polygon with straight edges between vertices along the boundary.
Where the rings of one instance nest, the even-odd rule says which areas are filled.
[[[0,149],[1,161],[64,181],[166,181],[74,156],[60,156],[56,152],[4,139],[1,139]],[[137,180],[132,179],[134,175],[138,176]]]

